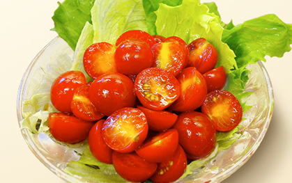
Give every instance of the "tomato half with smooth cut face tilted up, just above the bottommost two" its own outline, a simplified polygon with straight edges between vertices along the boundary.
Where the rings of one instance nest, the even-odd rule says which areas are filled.
[[[178,131],[169,129],[156,136],[146,138],[136,153],[139,157],[153,163],[160,163],[169,159],[178,148]]]

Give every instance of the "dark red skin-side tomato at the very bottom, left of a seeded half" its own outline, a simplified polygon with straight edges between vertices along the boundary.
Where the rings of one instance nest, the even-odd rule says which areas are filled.
[[[155,172],[157,164],[139,157],[136,152],[113,152],[113,165],[118,175],[130,182],[144,182]]]

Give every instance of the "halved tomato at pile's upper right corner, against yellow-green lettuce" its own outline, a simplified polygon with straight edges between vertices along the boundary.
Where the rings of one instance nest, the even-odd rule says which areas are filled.
[[[196,67],[201,74],[215,67],[218,59],[217,49],[205,38],[193,40],[188,47],[190,58],[187,67]]]

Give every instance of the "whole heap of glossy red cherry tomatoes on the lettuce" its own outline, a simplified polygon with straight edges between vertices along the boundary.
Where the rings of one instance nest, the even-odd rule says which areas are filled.
[[[49,132],[58,141],[88,138],[93,156],[113,164],[131,182],[174,182],[187,160],[207,157],[216,132],[238,126],[240,103],[222,90],[223,66],[205,38],[184,40],[132,30],[116,45],[86,49],[84,74],[69,71],[54,81]]]

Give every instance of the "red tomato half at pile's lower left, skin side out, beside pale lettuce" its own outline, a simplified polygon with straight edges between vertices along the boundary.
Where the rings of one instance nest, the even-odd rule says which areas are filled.
[[[89,136],[94,123],[79,120],[65,113],[50,113],[47,119],[49,132],[56,140],[65,143],[79,143]]]

